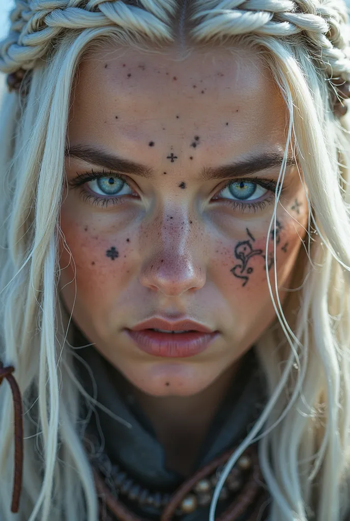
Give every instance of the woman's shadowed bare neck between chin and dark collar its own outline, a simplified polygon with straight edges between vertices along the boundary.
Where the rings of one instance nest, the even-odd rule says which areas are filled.
[[[198,451],[227,394],[240,362],[192,396],[151,396],[134,388],[134,396],[164,447],[165,464],[183,476],[192,473]]]

